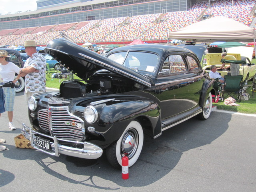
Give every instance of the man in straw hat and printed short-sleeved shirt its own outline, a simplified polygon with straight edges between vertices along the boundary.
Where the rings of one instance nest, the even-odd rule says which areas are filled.
[[[45,92],[45,72],[46,60],[42,54],[36,52],[36,42],[33,40],[25,41],[25,52],[30,56],[24,68],[20,70],[20,74],[25,77],[25,96],[26,101],[34,93]]]

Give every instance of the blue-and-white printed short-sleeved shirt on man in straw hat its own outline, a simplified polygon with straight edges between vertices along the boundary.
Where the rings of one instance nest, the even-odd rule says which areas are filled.
[[[45,72],[46,72],[46,60],[42,54],[34,53],[32,57],[29,57],[25,64],[25,67],[33,66],[37,70],[38,73],[28,73],[25,76],[25,93],[27,92],[45,92]]]

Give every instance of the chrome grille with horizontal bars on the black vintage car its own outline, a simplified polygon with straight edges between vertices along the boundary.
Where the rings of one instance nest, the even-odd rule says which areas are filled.
[[[38,122],[42,129],[50,131],[52,136],[71,140],[83,140],[84,121],[70,114],[68,106],[52,107],[38,111]]]

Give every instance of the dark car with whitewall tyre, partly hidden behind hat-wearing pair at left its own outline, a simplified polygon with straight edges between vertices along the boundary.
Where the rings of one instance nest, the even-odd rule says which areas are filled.
[[[20,52],[14,49],[9,49],[9,48],[0,48],[0,50],[6,50],[8,52],[8,55],[10,57],[6,57],[6,60],[8,62],[13,62],[16,64],[19,68],[23,68],[24,62],[21,58]],[[16,74],[15,78],[17,77],[18,74]],[[15,91],[16,92],[21,92],[24,91],[25,87],[25,81],[24,77],[21,77],[16,83],[15,83]]]

